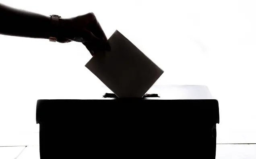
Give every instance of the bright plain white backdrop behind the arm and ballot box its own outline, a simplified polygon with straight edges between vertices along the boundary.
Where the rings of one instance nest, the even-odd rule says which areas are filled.
[[[156,85],[209,87],[219,101],[217,143],[256,143],[253,0],[0,3],[64,18],[94,12],[107,38],[119,30],[165,71]],[[85,68],[90,58],[81,43],[0,35],[0,145],[19,145],[22,136],[37,143],[37,99],[86,99],[97,91],[101,81]]]

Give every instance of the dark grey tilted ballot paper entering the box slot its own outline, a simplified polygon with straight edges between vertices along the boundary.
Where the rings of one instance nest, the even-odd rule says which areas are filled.
[[[85,66],[117,97],[143,97],[164,71],[118,30],[108,42],[111,51],[95,54]]]

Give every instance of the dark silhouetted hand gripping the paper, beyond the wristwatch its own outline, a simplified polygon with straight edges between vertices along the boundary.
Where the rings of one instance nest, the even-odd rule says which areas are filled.
[[[91,55],[111,49],[107,37],[93,13],[68,19],[60,18],[60,36],[57,37],[57,41],[61,43],[82,42]]]

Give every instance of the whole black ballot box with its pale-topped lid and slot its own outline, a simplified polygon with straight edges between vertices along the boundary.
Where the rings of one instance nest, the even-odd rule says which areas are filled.
[[[219,105],[209,89],[154,85],[148,92],[142,98],[99,90],[88,99],[38,100],[41,159],[215,159]]]

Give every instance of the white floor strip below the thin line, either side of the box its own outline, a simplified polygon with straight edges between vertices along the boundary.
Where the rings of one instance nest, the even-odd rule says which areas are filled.
[[[256,144],[217,144],[216,159],[255,159]],[[0,147],[0,159],[40,159],[39,146]]]

